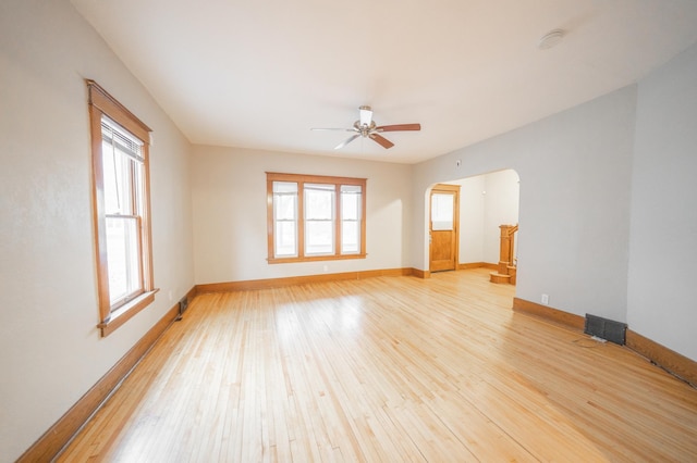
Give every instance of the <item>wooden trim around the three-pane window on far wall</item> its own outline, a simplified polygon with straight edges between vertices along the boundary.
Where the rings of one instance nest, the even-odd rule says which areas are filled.
[[[326,175],[302,175],[302,174],[283,174],[278,172],[267,172],[267,246],[268,258],[270,264],[293,263],[293,262],[317,262],[317,261],[339,261],[350,259],[365,259],[366,253],[366,178],[353,177],[334,177]],[[273,246],[273,183],[274,182],[292,182],[298,184],[297,191],[297,247],[298,255],[293,258],[276,258]],[[305,227],[304,227],[304,188],[305,184],[325,184],[334,186],[334,211],[335,218],[335,238],[334,253],[325,255],[305,255]],[[360,186],[360,250],[353,254],[341,253],[341,185]]]

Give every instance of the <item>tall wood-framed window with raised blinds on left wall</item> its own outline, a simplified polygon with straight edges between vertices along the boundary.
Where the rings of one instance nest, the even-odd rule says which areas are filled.
[[[102,336],[155,300],[150,243],[150,129],[87,80],[99,315]]]

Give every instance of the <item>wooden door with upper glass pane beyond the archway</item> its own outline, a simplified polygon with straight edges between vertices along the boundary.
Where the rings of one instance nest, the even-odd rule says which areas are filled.
[[[458,222],[460,186],[436,185],[430,195],[428,221],[431,272],[457,268]]]

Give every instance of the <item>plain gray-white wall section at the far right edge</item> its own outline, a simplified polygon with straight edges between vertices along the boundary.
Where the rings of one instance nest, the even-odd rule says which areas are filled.
[[[697,46],[638,86],[629,327],[697,360]]]

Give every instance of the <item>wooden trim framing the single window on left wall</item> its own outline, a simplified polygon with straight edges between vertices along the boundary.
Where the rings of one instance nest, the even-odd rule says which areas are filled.
[[[150,167],[149,140],[150,128],[138,120],[131,111],[117,101],[96,82],[87,79],[89,122],[91,137],[93,168],[93,220],[95,229],[95,249],[97,254],[97,287],[99,300],[99,320],[97,327],[101,336],[108,336],[139,311],[155,301],[157,289],[154,286],[152,273],[152,234],[150,227]],[[109,300],[109,275],[107,262],[107,229],[105,208],[105,186],[102,178],[101,155],[101,118],[102,115],[114,121],[132,135],[143,141],[143,195],[144,211],[142,213],[140,255],[143,256],[143,292],[124,303],[113,312]]]

